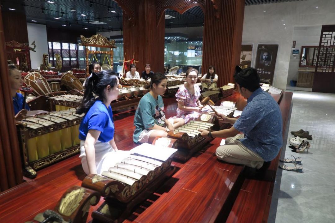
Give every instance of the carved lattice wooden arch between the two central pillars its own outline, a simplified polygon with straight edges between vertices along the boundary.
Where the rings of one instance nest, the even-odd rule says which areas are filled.
[[[205,0],[197,1],[180,1],[180,0],[157,0],[157,27],[164,15],[165,9],[173,9],[183,14],[188,9],[200,6],[205,14]]]

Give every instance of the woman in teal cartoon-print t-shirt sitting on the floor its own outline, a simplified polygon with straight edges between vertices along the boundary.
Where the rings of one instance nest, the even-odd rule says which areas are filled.
[[[133,134],[134,142],[152,143],[156,136],[167,136],[168,131],[182,126],[184,119],[165,118],[164,104],[162,96],[166,91],[167,80],[165,75],[155,73],[150,79],[150,91],[146,93],[138,103]]]

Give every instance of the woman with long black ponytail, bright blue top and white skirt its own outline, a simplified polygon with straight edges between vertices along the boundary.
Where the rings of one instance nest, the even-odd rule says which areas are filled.
[[[101,174],[106,170],[104,163],[109,163],[109,157],[118,150],[110,104],[119,90],[119,80],[111,70],[93,72],[85,83],[84,98],[76,113],[86,113],[79,126],[79,158],[86,174]]]

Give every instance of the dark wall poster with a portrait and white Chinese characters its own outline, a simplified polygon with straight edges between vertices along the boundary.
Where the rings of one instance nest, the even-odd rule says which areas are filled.
[[[258,44],[257,46],[255,68],[263,83],[272,84],[273,82],[277,52],[278,44]]]

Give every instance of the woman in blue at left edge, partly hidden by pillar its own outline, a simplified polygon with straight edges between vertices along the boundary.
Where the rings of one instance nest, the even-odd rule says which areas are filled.
[[[22,94],[17,93],[17,91],[23,85],[21,73],[19,72],[19,70],[17,70],[15,65],[8,65],[8,70],[10,93],[13,99],[15,120],[20,121],[26,117],[27,111],[29,111],[30,109],[27,103],[25,103],[24,109],[22,109],[24,97]]]

